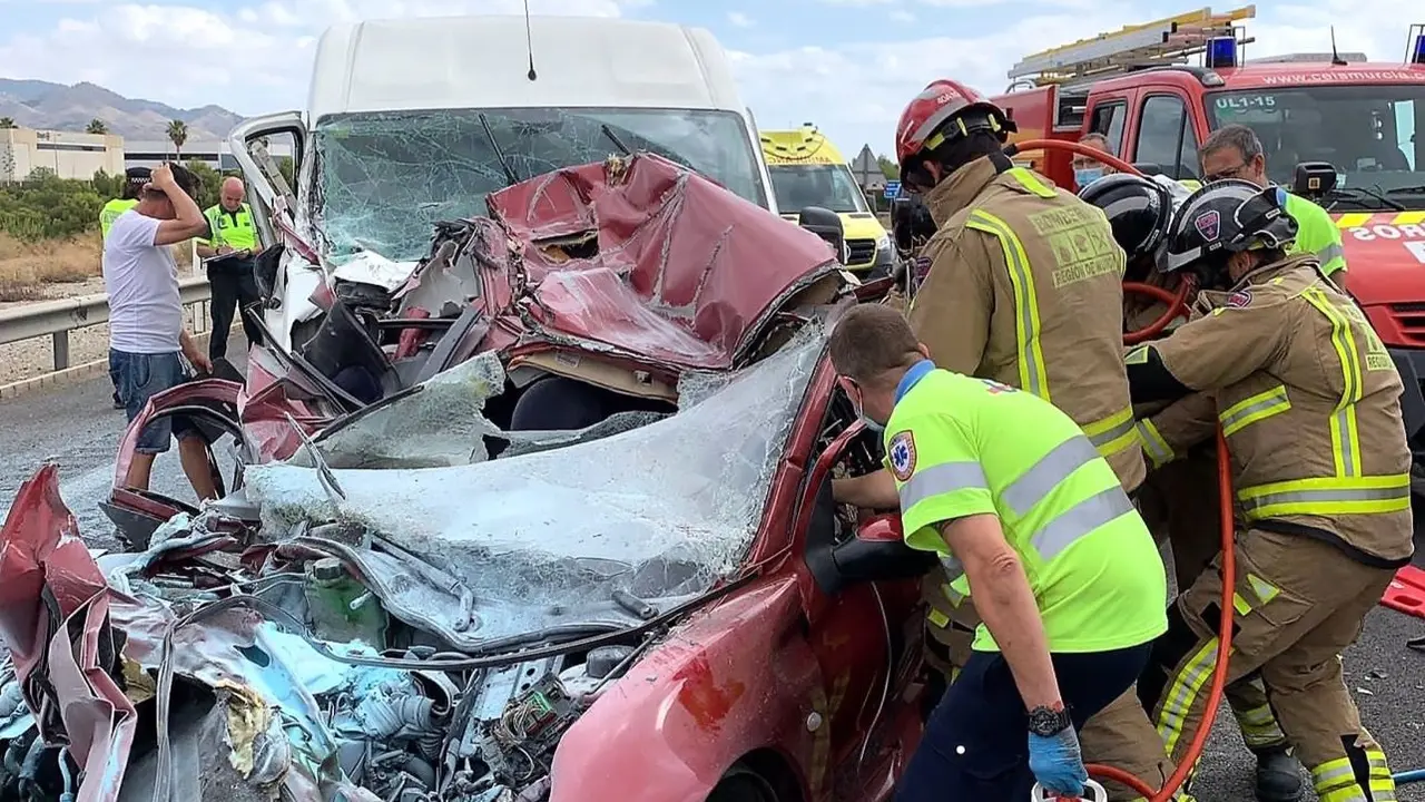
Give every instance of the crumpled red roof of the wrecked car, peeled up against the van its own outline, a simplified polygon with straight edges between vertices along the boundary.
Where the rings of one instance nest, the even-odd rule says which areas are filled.
[[[475,261],[529,287],[512,303],[517,287],[486,283],[503,328],[681,368],[734,367],[781,301],[836,270],[817,234],[653,154],[549,173],[487,205]]]

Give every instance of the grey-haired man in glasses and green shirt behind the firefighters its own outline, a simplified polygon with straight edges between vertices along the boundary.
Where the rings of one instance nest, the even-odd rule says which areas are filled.
[[[1241,178],[1258,187],[1271,181],[1267,178],[1267,154],[1261,140],[1247,126],[1223,126],[1207,137],[1197,150],[1203,163],[1203,181]],[[1347,287],[1345,248],[1341,245],[1341,230],[1331,214],[1315,203],[1287,194],[1287,214],[1297,221],[1297,244],[1291,254],[1311,254],[1321,263],[1321,273],[1331,277],[1337,287]]]

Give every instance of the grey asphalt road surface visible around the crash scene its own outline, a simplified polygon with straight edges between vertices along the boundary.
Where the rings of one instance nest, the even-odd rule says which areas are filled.
[[[229,354],[238,352],[241,344],[234,342]],[[0,402],[0,508],[9,509],[20,484],[41,462],[54,460],[61,494],[78,517],[84,538],[113,547],[113,525],[97,505],[113,482],[114,450],[123,431],[124,412],[110,408],[107,378]],[[154,489],[191,498],[177,452],[158,458]],[[1419,532],[1416,541],[1425,545]],[[1425,766],[1425,654],[1405,646],[1419,635],[1425,635],[1425,621],[1378,608],[1367,619],[1361,641],[1345,655],[1347,684],[1396,772]],[[1248,802],[1251,762],[1226,705],[1220,721],[1203,758],[1196,796],[1198,802]],[[1401,788],[1398,798],[1425,802],[1425,783]]]

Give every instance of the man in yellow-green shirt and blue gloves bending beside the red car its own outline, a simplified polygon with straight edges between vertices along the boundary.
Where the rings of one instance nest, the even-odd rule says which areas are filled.
[[[829,350],[862,420],[882,430],[906,544],[936,552],[985,619],[896,801],[1019,801],[1036,781],[1082,796],[1077,731],[1167,631],[1153,535],[1069,415],[938,370],[893,308],[854,307]]]

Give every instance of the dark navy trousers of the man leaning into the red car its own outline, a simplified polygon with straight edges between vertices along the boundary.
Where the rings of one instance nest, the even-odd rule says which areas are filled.
[[[1151,644],[1112,652],[1050,655],[1074,731],[1137,681]],[[1009,664],[975,652],[931,714],[896,802],[1020,802],[1029,771],[1029,714]]]

